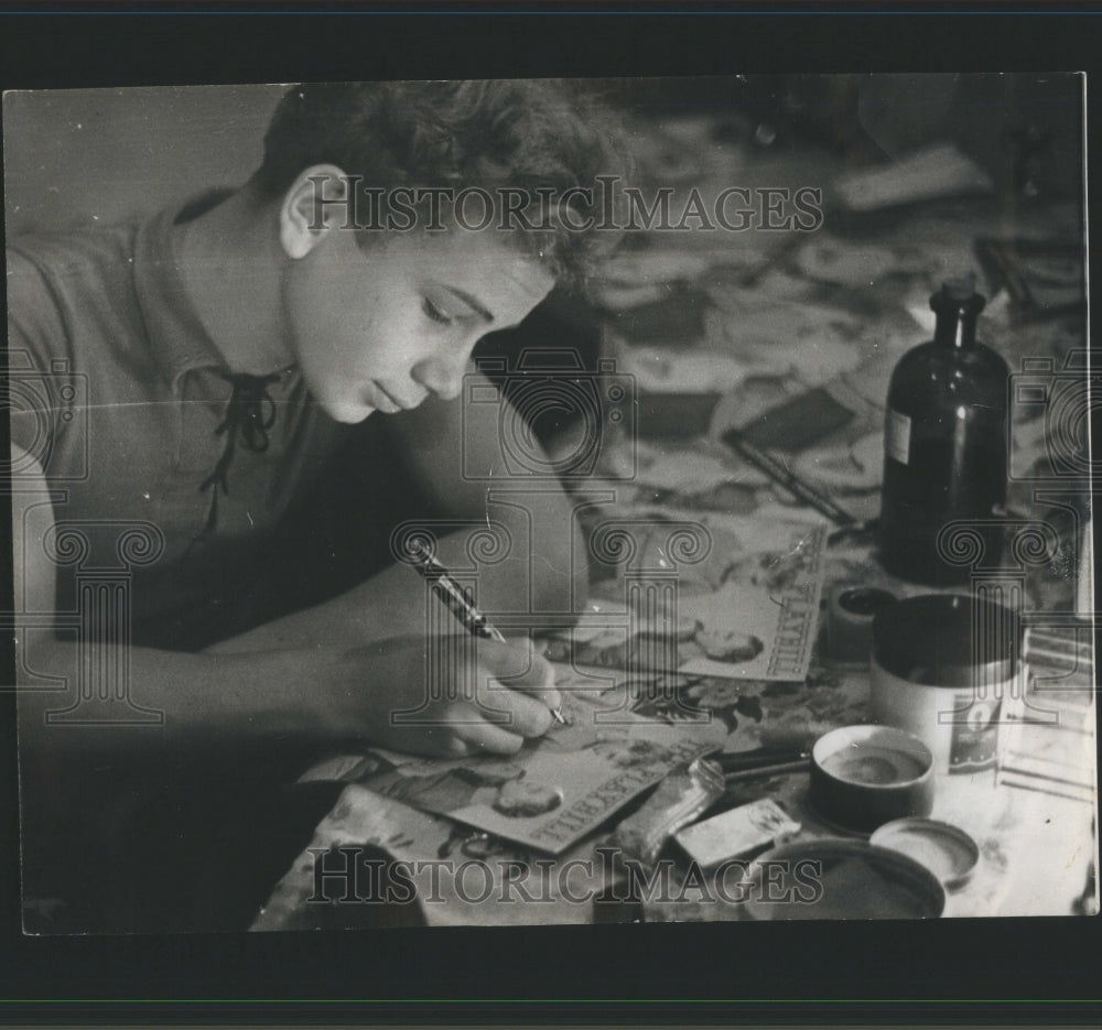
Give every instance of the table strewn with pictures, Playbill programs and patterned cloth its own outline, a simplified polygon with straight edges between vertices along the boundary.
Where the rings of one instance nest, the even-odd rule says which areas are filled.
[[[747,155],[709,142],[699,120],[673,119],[662,132],[656,182],[705,198],[731,183],[753,192],[831,173],[829,158],[810,151]],[[607,434],[598,467],[576,486],[591,595],[574,629],[539,639],[565,722],[507,760],[328,757],[306,778],[347,785],[253,929],[770,918],[746,903],[737,877],[717,883],[714,861],[688,860],[702,853],[672,832],[767,799],[779,807],[769,844],[867,839],[814,806],[808,750],[831,730],[871,722],[867,625],[840,605],[846,589],[931,592],[889,575],[875,525],[864,525],[880,509],[892,370],[932,335],[931,293],[973,268],[987,297],[977,335],[1012,372],[1036,357],[1062,368],[1084,346],[1081,306],[1061,311],[1050,297],[1042,317],[1026,316],[976,259],[977,241],[1008,236],[1076,245],[1077,206],[1042,198],[1015,209],[1008,226],[980,178],[965,171],[966,195],[948,183],[943,196],[863,218],[844,208],[839,187],[812,231],[640,234],[612,260],[596,299],[606,353],[637,393],[637,424]],[[851,186],[849,196],[872,188]],[[1058,292],[1051,275],[1046,282]],[[1081,289],[1065,288],[1072,301]],[[1045,454],[1042,412],[1012,415],[1011,464],[1029,468]],[[731,427],[841,506],[852,525],[725,445]],[[1030,490],[1028,477],[1013,480],[1007,508],[1033,510]],[[1026,610],[1082,610],[1067,549],[1022,575]],[[947,889],[943,914],[1093,911],[1093,715],[1071,722],[1025,744],[1004,722],[994,765],[934,777],[930,817],[964,831],[977,853],[974,871]],[[1012,739],[1078,772],[1015,782]],[[1065,779],[1078,785],[1049,790]],[[615,854],[649,870],[641,893],[638,878],[617,890]],[[381,889],[342,875],[364,855],[391,863],[389,914],[334,903]],[[862,903],[830,914],[885,914],[865,874]],[[804,918],[830,918],[814,908]]]

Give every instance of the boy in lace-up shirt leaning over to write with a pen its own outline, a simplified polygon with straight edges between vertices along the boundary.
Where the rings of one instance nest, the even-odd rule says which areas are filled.
[[[579,102],[540,82],[294,87],[240,187],[137,226],[9,241],[12,368],[55,399],[12,402],[17,612],[82,610],[77,566],[117,566],[127,527],[139,559],[158,554],[131,563],[126,607],[83,652],[76,630],[17,633],[24,812],[63,753],[507,755],[549,728],[561,698],[523,637],[479,640],[477,675],[428,690],[425,587],[392,564],[397,517],[380,518],[451,524],[444,564],[463,564],[472,523],[504,527],[512,550],[478,573],[485,610],[563,612],[584,595],[568,495],[493,503],[488,487],[509,486],[500,442],[462,410],[479,338],[584,274],[579,219],[523,200],[594,189],[613,170],[603,123]],[[408,225],[349,219],[402,187],[423,193]],[[527,217],[472,228],[439,192],[465,187],[511,188]],[[385,424],[357,435],[368,423]],[[363,582],[335,552],[317,559],[322,523],[356,538]],[[101,700],[79,698],[80,654],[109,652],[159,725],[104,725]],[[79,726],[47,723],[78,700]],[[410,709],[418,723],[395,723]]]

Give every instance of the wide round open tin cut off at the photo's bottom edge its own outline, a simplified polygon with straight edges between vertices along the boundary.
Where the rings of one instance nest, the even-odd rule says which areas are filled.
[[[946,888],[926,866],[885,847],[835,837],[766,852],[739,885],[745,918],[937,919]]]

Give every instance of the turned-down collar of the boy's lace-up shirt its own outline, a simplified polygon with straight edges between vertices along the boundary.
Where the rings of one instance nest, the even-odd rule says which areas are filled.
[[[213,191],[165,208],[139,227],[134,240],[134,283],[150,350],[173,388],[187,372],[226,368],[187,296],[172,247],[172,227],[182,213],[210,207],[226,195]]]

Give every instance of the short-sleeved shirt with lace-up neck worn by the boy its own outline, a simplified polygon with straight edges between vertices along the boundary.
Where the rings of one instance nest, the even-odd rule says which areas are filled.
[[[347,437],[299,369],[283,370],[268,389],[268,447],[250,451],[238,436],[228,494],[203,533],[213,487],[201,484],[226,447],[216,430],[231,386],[185,293],[171,229],[216,200],[138,226],[24,237],[8,250],[12,440],[61,491],[55,520],[88,543],[58,566],[58,610],[73,610],[80,571],[128,570],[136,644],[190,650],[262,619],[279,562],[273,531],[316,502]],[[163,539],[156,561],[123,560],[128,525]]]

